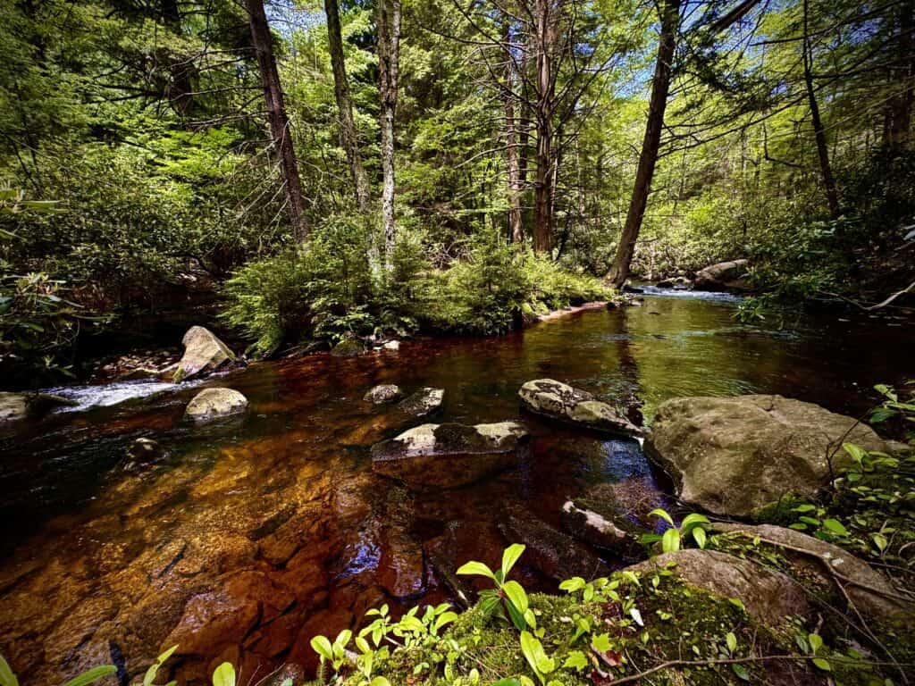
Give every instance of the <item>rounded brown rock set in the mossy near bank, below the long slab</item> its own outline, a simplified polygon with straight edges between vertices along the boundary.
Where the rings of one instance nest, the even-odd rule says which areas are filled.
[[[633,572],[660,572],[673,564],[673,573],[687,584],[724,598],[737,598],[750,616],[777,627],[786,617],[809,616],[807,592],[785,573],[725,552],[696,549],[665,552],[630,567]]]

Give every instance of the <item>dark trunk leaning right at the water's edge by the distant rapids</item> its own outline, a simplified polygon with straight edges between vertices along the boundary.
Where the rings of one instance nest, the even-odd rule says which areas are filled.
[[[629,278],[632,255],[635,253],[636,241],[639,240],[641,220],[648,205],[651,177],[654,176],[654,167],[658,163],[664,110],[667,108],[667,94],[671,89],[673,53],[676,50],[677,31],[680,26],[680,2],[681,0],[665,0],[661,8],[661,35],[658,37],[658,58],[651,80],[648,123],[645,125],[645,137],[641,142],[639,166],[636,169],[635,186],[632,188],[626,224],[619,237],[613,266],[607,276],[608,283],[618,288]]]

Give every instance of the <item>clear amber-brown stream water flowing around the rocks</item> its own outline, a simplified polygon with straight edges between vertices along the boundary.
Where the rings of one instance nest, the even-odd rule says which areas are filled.
[[[232,659],[247,681],[285,660],[313,665],[308,639],[358,625],[370,606],[453,598],[451,571],[497,564],[511,541],[533,543],[520,569],[532,588],[624,563],[557,533],[562,505],[603,484],[621,518],[644,521],[673,506],[662,479],[634,441],[522,414],[524,381],[565,381],[650,423],[659,402],[697,394],[781,393],[860,413],[872,384],[915,376],[906,320],[786,315],[781,327],[740,327],[736,302],[650,289],[640,307],[503,338],[253,364],[178,387],[59,390],[80,404],[0,434],[0,651],[26,684],[112,660],[133,672],[172,643],[179,679],[202,683]],[[520,420],[531,455],[438,493],[376,476],[371,445],[405,428],[362,402],[382,382],[444,388],[435,421]],[[182,423],[201,386],[242,391],[251,412]],[[138,437],[163,452],[129,466]]]

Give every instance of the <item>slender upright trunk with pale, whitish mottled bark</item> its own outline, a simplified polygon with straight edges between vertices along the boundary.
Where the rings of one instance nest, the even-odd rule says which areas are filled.
[[[378,71],[382,94],[382,224],[384,255],[391,266],[394,242],[394,114],[400,59],[401,2],[378,0]]]

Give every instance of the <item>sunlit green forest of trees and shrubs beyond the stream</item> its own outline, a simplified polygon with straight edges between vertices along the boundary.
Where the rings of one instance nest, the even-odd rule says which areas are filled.
[[[266,354],[912,280],[910,0],[2,2],[7,358],[202,293]]]

